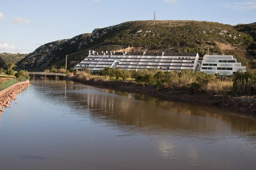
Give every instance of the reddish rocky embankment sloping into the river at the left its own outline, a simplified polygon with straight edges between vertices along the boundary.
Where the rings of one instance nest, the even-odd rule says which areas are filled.
[[[16,100],[17,94],[29,85],[29,81],[19,82],[0,91],[0,115],[4,112],[2,108],[9,107],[10,102]]]

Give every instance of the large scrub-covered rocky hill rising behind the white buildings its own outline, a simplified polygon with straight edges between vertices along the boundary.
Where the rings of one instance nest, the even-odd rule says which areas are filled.
[[[20,60],[19,69],[43,70],[52,65],[68,68],[80,62],[92,50],[177,51],[232,54],[242,65],[256,68],[254,24],[231,26],[217,22],[162,20],[129,21],[91,34],[47,43]]]

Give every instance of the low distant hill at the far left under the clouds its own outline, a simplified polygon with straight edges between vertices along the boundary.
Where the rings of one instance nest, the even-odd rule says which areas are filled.
[[[11,54],[7,52],[0,53],[0,68],[4,68],[4,64],[8,62],[12,62],[14,64],[17,64],[19,60],[27,56],[27,54]]]

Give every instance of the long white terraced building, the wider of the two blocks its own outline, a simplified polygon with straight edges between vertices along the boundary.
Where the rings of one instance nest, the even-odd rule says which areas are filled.
[[[120,68],[127,70],[161,69],[163,71],[181,69],[195,70],[199,59],[198,53],[181,52],[115,52],[89,51],[75,68],[87,68],[92,72],[99,72],[103,68]]]

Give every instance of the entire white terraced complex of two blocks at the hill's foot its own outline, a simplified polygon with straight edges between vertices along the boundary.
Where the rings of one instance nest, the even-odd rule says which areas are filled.
[[[92,72],[99,72],[103,68],[127,70],[155,68],[163,71],[191,69],[220,75],[232,75],[237,70],[246,71],[232,55],[205,55],[202,62],[198,60],[198,53],[89,51],[89,55],[75,68],[87,68]]]

